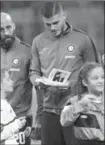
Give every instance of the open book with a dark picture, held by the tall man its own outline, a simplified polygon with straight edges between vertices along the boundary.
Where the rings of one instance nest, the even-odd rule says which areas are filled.
[[[48,78],[42,77],[36,79],[36,82],[43,83],[49,86],[58,86],[58,87],[67,88],[69,86],[68,80],[70,78],[70,75],[71,72],[54,68],[50,72]]]

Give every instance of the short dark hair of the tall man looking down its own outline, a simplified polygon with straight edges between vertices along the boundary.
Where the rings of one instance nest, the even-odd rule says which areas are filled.
[[[45,18],[50,18],[62,11],[64,11],[64,8],[59,2],[46,2],[41,10],[41,14]]]

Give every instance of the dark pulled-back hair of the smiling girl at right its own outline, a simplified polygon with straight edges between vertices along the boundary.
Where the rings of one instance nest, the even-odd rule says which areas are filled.
[[[84,64],[83,67],[80,69],[80,73],[78,75],[78,81],[77,81],[77,85],[76,85],[78,99],[81,99],[81,95],[88,91],[87,87],[83,85],[82,81],[85,80],[88,82],[89,72],[91,72],[93,69],[99,68],[99,67],[102,67],[102,65],[99,63],[88,62],[88,63]]]

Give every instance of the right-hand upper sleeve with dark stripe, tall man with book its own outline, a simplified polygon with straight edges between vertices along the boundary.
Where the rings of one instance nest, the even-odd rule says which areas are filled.
[[[83,46],[83,60],[84,62],[98,62],[100,63],[100,53],[98,52],[93,40],[91,37],[86,36]]]

